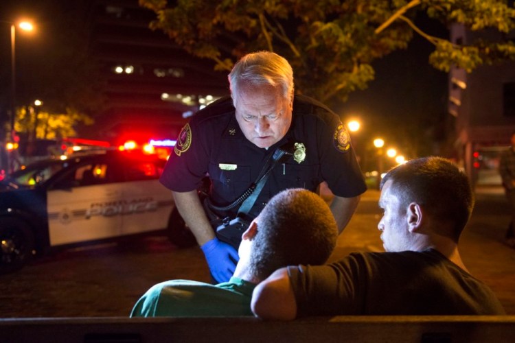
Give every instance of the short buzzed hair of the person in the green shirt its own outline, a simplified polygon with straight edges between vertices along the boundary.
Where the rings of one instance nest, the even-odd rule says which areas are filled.
[[[306,189],[281,191],[258,217],[251,271],[266,279],[287,265],[323,264],[337,236],[336,221],[322,198]]]

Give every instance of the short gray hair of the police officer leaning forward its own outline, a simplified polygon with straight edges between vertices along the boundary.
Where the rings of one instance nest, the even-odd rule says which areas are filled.
[[[271,51],[258,51],[243,56],[229,73],[234,106],[242,88],[263,85],[278,87],[284,99],[292,101],[293,69],[286,58]]]

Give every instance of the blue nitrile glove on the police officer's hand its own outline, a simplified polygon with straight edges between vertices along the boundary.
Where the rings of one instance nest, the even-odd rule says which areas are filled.
[[[204,252],[211,276],[218,282],[227,282],[231,279],[240,259],[235,248],[216,238],[207,241],[201,246]]]

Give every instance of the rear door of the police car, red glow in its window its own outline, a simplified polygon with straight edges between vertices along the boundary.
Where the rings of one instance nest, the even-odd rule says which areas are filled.
[[[168,226],[173,209],[172,192],[159,182],[163,162],[128,161],[124,167],[124,235],[159,230]]]

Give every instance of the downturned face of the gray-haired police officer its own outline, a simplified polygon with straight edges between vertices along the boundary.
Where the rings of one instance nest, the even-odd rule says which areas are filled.
[[[292,104],[276,88],[242,88],[236,96],[236,120],[249,141],[258,147],[270,147],[288,132]]]

